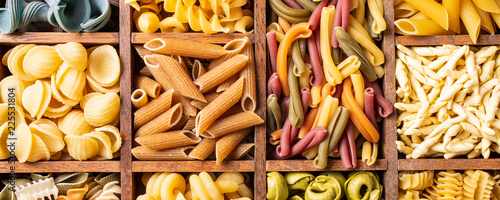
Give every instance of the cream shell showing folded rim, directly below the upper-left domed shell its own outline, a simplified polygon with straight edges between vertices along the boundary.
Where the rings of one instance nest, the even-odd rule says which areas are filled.
[[[49,106],[52,98],[50,85],[37,80],[34,85],[27,87],[23,92],[22,102],[31,117],[40,119]]]

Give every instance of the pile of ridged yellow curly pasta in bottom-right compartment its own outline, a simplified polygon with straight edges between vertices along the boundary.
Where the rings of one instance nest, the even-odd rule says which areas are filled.
[[[498,171],[400,172],[399,200],[500,199]]]

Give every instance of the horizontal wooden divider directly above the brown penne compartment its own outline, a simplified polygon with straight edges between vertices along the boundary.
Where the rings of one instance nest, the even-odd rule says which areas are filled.
[[[258,22],[259,20],[255,20]],[[149,42],[154,38],[174,38],[182,40],[191,40],[198,42],[209,42],[214,44],[225,44],[231,40],[248,37],[252,43],[255,41],[254,34],[242,34],[242,33],[216,33],[216,34],[205,34],[205,33],[132,33],[132,43],[133,44],[144,44]],[[265,53],[265,52],[264,52]],[[257,55],[257,52],[256,52]]]

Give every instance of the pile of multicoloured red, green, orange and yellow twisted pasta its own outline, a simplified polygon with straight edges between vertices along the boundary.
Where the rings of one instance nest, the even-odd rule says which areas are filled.
[[[386,28],[382,1],[270,0],[270,5],[277,19],[266,35],[267,131],[270,143],[278,145],[270,156],[302,154],[324,169],[329,156],[355,168],[361,154],[373,165],[378,121],[393,110],[377,83],[385,62],[375,43]]]

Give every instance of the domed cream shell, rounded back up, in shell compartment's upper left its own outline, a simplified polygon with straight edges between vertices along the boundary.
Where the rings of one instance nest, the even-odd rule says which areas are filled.
[[[24,57],[23,69],[28,76],[35,78],[49,77],[57,71],[62,59],[53,46],[33,47]]]

